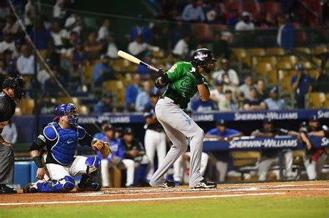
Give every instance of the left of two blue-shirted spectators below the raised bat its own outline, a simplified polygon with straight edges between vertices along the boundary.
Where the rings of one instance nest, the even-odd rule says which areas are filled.
[[[142,92],[142,80],[140,74],[135,73],[133,76],[133,84],[126,88],[124,99],[126,101],[126,109],[128,111],[135,111],[135,102],[138,94]]]

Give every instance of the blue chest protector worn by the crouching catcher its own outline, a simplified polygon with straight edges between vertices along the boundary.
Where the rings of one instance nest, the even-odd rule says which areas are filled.
[[[51,122],[57,133],[56,143],[51,147],[51,155],[58,163],[69,165],[74,161],[74,153],[78,146],[78,129],[62,129],[57,122]]]

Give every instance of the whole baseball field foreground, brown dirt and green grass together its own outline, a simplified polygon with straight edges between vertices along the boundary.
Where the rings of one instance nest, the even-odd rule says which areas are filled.
[[[3,217],[329,217],[329,181],[0,196]]]

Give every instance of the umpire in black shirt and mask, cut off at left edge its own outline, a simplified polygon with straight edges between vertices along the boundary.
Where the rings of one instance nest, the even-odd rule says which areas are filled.
[[[17,193],[14,188],[6,185],[13,182],[15,158],[10,142],[4,140],[1,133],[15,113],[16,102],[22,102],[24,93],[22,78],[7,78],[3,81],[0,93],[0,194]]]

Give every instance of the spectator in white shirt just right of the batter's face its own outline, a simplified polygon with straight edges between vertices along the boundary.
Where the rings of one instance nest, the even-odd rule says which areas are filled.
[[[227,73],[228,77],[226,77],[226,80],[223,80],[223,75]],[[219,71],[214,72],[212,74],[212,79],[215,81],[222,81],[225,82],[226,84],[234,84],[235,86],[239,85],[239,78],[237,77],[237,71],[234,69],[230,68],[230,62],[223,58],[221,60],[221,69]]]

